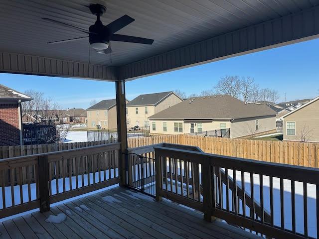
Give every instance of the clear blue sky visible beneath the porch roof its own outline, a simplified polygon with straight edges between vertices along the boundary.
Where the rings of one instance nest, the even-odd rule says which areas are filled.
[[[284,101],[319,95],[319,39],[233,57],[126,83],[127,99],[180,89],[187,94],[211,89],[225,75],[251,76],[262,88],[279,91]],[[92,100],[115,98],[115,83],[30,75],[1,74],[0,84],[24,92],[40,91],[61,108],[89,107]]]

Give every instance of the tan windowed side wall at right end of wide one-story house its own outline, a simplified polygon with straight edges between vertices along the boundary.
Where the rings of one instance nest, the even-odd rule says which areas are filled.
[[[258,130],[255,130],[255,120],[258,119]],[[249,119],[235,119],[231,124],[231,138],[244,137],[276,129],[276,117],[256,117]]]

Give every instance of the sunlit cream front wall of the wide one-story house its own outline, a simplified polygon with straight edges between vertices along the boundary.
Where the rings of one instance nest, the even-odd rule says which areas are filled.
[[[153,130],[152,123],[156,122],[156,130]],[[167,131],[163,131],[163,122],[166,122]],[[182,122],[183,123],[183,132],[174,132],[174,122]],[[214,129],[220,129],[220,123],[226,123],[226,128],[230,127],[230,121],[212,121],[212,122],[203,122],[202,127],[203,131],[209,131]],[[197,122],[194,126],[194,132],[197,132]],[[150,133],[156,134],[180,134],[180,133],[190,133],[190,122],[184,122],[184,120],[150,120]]]

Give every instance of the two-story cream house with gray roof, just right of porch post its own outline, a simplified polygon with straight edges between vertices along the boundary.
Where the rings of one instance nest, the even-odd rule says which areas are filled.
[[[182,102],[174,92],[140,95],[126,105],[128,127],[149,127],[149,117]]]

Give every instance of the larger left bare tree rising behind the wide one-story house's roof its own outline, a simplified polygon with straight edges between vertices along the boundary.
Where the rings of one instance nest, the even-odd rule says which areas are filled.
[[[230,95],[238,99],[240,95],[241,79],[239,76],[222,77],[214,87],[215,92],[220,95]]]

